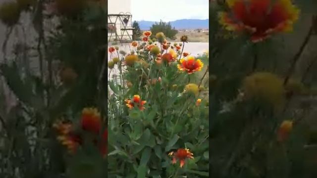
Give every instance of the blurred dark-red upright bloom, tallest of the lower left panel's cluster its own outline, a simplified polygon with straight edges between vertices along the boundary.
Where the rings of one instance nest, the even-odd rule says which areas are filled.
[[[97,108],[84,108],[81,116],[81,127],[84,131],[99,134],[101,116]]]

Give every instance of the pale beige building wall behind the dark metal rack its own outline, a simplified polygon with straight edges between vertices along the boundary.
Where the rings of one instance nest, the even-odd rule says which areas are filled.
[[[131,0],[108,0],[108,14],[131,14]],[[119,18],[120,17],[117,17],[117,16],[109,16],[108,23],[110,23],[110,21],[114,23],[115,20],[117,19],[115,23],[115,27],[116,27],[116,34],[119,36],[118,40],[121,39],[121,36],[123,40],[130,40],[129,36],[132,38],[133,31],[132,30],[122,31],[121,28],[123,28],[123,25],[120,22]],[[123,20],[124,17],[121,17],[121,19]],[[133,16],[130,16],[126,28],[132,28],[132,22],[133,22]],[[111,39],[109,39],[110,34],[111,33],[109,33],[108,31],[108,40],[112,41],[116,38],[116,35],[113,33],[111,36]]]

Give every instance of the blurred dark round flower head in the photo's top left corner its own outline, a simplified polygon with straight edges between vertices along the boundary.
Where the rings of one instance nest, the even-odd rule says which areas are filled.
[[[15,1],[2,2],[0,5],[0,20],[7,26],[15,25],[20,18],[19,5]]]

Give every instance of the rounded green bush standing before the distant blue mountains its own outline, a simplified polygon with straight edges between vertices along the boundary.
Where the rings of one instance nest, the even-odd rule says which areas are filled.
[[[175,39],[175,35],[178,33],[177,30],[175,30],[175,28],[172,28],[171,24],[168,22],[162,22],[160,21],[159,23],[155,23],[152,25],[151,27],[151,32],[152,32],[152,36],[154,37],[157,33],[159,32],[163,32],[164,35],[167,38],[170,38],[172,40]]]

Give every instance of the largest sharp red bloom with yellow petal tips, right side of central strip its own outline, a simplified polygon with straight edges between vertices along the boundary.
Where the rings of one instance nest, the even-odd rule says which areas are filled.
[[[189,56],[187,59],[182,58],[179,62],[177,68],[180,71],[186,71],[188,74],[201,71],[204,67],[204,63],[200,59],[196,60],[194,56]]]

